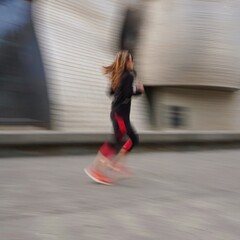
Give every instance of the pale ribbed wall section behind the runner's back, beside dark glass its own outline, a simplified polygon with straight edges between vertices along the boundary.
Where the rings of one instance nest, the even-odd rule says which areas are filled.
[[[110,131],[111,99],[101,67],[117,51],[121,0],[38,0],[33,14],[51,100],[53,126],[66,131]],[[144,97],[132,105],[137,129],[148,128]]]

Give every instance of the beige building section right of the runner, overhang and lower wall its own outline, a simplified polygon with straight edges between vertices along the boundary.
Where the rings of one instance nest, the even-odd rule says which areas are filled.
[[[239,130],[237,1],[144,1],[137,46],[155,129]]]

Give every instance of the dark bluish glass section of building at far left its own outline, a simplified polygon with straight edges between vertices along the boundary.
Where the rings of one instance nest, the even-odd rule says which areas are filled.
[[[0,0],[0,124],[49,128],[46,78],[30,2]]]

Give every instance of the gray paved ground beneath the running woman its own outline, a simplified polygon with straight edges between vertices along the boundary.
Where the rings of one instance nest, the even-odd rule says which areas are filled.
[[[0,159],[0,239],[240,239],[240,150],[132,153],[115,186],[93,158]]]

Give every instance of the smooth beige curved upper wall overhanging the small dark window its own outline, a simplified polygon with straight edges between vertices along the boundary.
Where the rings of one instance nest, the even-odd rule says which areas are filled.
[[[240,87],[240,5],[144,1],[139,70],[146,85]]]

